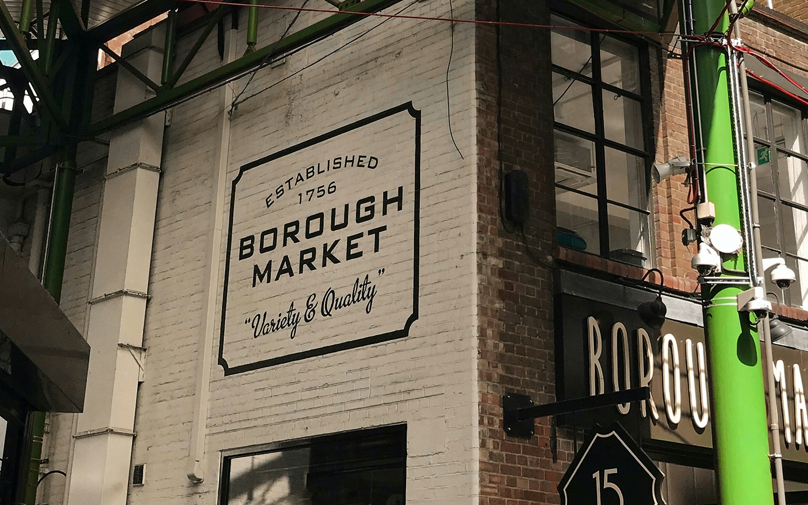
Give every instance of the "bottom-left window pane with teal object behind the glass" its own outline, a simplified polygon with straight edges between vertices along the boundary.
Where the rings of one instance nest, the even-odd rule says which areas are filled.
[[[600,255],[597,200],[557,187],[556,224],[560,245]]]

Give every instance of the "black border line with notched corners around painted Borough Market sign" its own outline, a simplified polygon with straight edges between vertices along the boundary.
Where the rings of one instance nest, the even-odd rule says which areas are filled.
[[[409,112],[410,116],[412,116],[413,119],[415,119],[415,232],[413,234],[414,255],[412,262],[412,270],[413,270],[412,314],[410,314],[410,317],[407,318],[404,327],[401,330],[389,331],[387,333],[382,333],[380,335],[372,335],[369,337],[364,337],[363,339],[356,339],[348,342],[336,343],[330,346],[310,349],[309,351],[294,352],[286,356],[278,356],[270,360],[260,360],[255,361],[254,363],[240,364],[235,367],[229,367],[227,365],[227,361],[225,361],[224,358],[225,317],[227,314],[227,286],[230,269],[230,250],[233,248],[233,214],[235,205],[234,197],[236,193],[236,184],[242,178],[244,172],[252,168],[255,168],[256,166],[260,166],[263,165],[264,163],[276,160],[277,158],[282,158],[288,154],[295,153],[301,149],[305,149],[312,145],[319,144],[322,141],[327,141],[331,138],[342,135],[343,133],[350,132],[351,130],[355,130],[356,128],[367,126],[368,124],[372,124],[378,120],[382,120],[385,119],[386,117],[394,116],[399,112],[405,112],[405,111]],[[221,365],[221,368],[225,369],[225,376],[234,375],[242,372],[251,372],[253,370],[259,370],[260,368],[275,366],[277,364],[284,364],[284,363],[291,363],[292,361],[305,360],[306,358],[311,358],[314,356],[323,356],[326,354],[330,354],[332,352],[346,351],[347,349],[355,349],[356,347],[363,347],[366,345],[371,345],[373,343],[381,343],[381,342],[387,342],[389,340],[401,339],[402,337],[410,335],[410,326],[412,326],[413,322],[418,320],[419,237],[421,227],[420,222],[421,222],[421,111],[416,110],[415,107],[413,107],[412,102],[402,103],[398,107],[393,107],[391,109],[386,110],[385,112],[379,112],[378,114],[374,114],[373,116],[366,117],[363,120],[358,120],[354,123],[346,124],[345,126],[332,130],[329,133],[323,133],[318,137],[314,137],[307,141],[303,141],[297,145],[292,145],[292,147],[288,147],[286,149],[281,149],[280,151],[274,154],[269,154],[263,158],[259,158],[253,162],[249,162],[246,163],[245,165],[242,165],[241,169],[238,170],[238,175],[236,175],[236,178],[233,179],[233,186],[230,190],[230,213],[229,213],[229,223],[227,227],[227,255],[225,259],[225,280],[222,287],[222,297],[221,297],[221,328],[219,330],[219,364]]]

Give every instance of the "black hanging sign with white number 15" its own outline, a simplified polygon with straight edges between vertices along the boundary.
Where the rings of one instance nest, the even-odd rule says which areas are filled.
[[[665,505],[664,477],[620,423],[595,425],[558,493],[562,505]]]

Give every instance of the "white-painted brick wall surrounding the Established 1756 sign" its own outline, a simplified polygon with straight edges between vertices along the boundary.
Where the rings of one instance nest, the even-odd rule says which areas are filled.
[[[473,2],[453,3],[456,17],[473,18]],[[446,0],[416,2],[406,10],[410,15],[448,13]],[[304,13],[298,27],[322,16]],[[261,10],[260,19],[263,46],[284,31],[292,14]],[[293,54],[284,65],[260,70],[244,96],[313,63],[381,20],[364,19]],[[240,26],[239,55],[245,47],[246,19]],[[477,502],[473,27],[457,25],[450,73],[452,128],[465,160],[448,136],[444,78],[449,36],[448,23],[391,19],[242,103],[234,115],[229,179],[245,162],[389,107],[414,103],[423,115],[420,310],[410,336],[388,343],[230,377],[224,377],[214,357],[206,478],[198,485],[187,480],[185,466],[221,109],[216,91],[175,107],[163,152],[144,339],[146,380],[138,393],[133,449],[133,462],[147,465],[147,482],[130,488],[129,503],[216,503],[221,450],[402,422],[408,425],[407,503]],[[193,38],[183,40],[178,61]],[[214,36],[183,80],[218,63]],[[245,83],[242,78],[232,86],[238,92]],[[83,317],[97,222],[91,203],[97,203],[99,187],[96,180],[95,192],[77,200],[77,215],[84,217],[71,229],[71,239],[81,242],[71,249],[65,285],[66,306],[75,314],[71,317]],[[222,269],[223,263],[224,258]],[[218,297],[221,301],[221,292]],[[218,337],[208,351],[217,356]],[[60,421],[55,427],[54,440],[61,446],[69,423]],[[49,503],[59,498],[54,486]]]

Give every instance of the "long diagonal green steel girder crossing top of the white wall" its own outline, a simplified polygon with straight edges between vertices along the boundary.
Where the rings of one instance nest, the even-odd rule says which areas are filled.
[[[372,13],[381,11],[389,6],[393,6],[402,0],[364,0],[354,6],[347,7],[346,11]],[[163,4],[165,5],[165,4]],[[154,98],[145,100],[145,102],[138,103],[133,107],[129,107],[124,111],[117,112],[103,120],[99,120],[95,124],[91,124],[90,128],[86,131],[86,136],[95,137],[99,133],[106,132],[112,128],[118,128],[124,124],[128,124],[134,120],[142,119],[146,116],[151,116],[166,107],[179,102],[180,100],[187,99],[191,95],[199,93],[200,91],[208,90],[214,86],[220,85],[230,78],[237,77],[239,74],[246,72],[255,66],[260,65],[264,58],[269,53],[286,53],[301,45],[308,44],[314,40],[318,40],[323,36],[329,36],[335,32],[339,32],[344,27],[348,27],[361,19],[363,15],[353,14],[335,14],[326,19],[322,19],[309,27],[305,27],[299,32],[286,36],[283,39],[277,40],[275,43],[268,44],[264,48],[260,48],[253,53],[238,58],[227,65],[223,65],[218,69],[212,70],[207,74],[200,75],[193,78],[188,82],[183,82],[179,86],[173,88],[161,88]],[[93,31],[90,30],[90,33]]]

